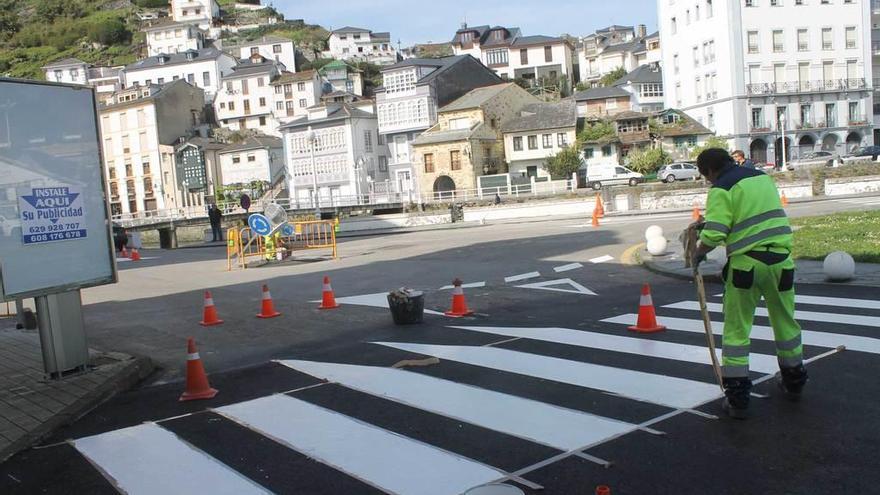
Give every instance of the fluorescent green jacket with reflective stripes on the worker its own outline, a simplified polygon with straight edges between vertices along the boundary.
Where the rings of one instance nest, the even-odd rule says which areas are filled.
[[[728,257],[756,248],[791,251],[791,225],[773,179],[750,168],[723,169],[709,189],[700,241],[727,246]]]

